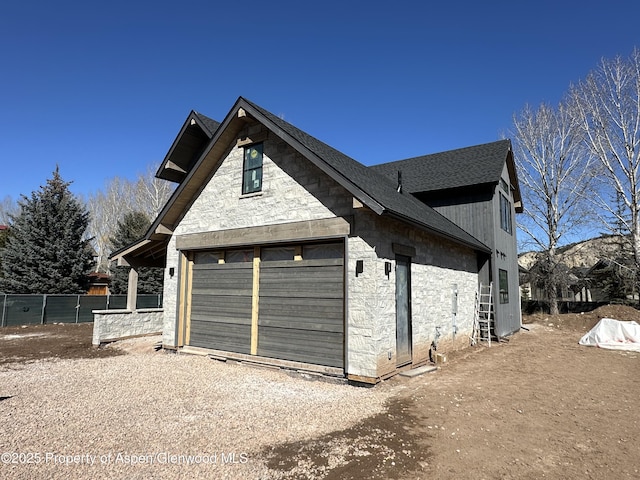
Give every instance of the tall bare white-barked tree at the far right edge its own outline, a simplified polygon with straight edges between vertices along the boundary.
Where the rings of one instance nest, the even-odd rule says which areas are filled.
[[[603,188],[595,197],[605,212],[602,219],[609,230],[622,226],[628,233],[638,272],[640,50],[634,49],[628,58],[602,59],[584,81],[572,86],[571,96],[578,107],[586,143],[603,169]],[[618,202],[611,202],[612,198]]]

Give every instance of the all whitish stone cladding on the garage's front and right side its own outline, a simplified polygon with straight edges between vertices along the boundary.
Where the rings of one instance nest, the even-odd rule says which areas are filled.
[[[453,347],[451,294],[458,285],[456,345],[468,344],[475,291],[476,254],[408,225],[353,209],[352,196],[274,134],[264,142],[263,190],[241,195],[243,149],[233,147],[174,231],[167,248],[163,344],[175,346],[179,252],[175,237],[233,228],[354,216],[348,239],[346,373],[379,378],[395,370],[395,254],[392,244],[416,248],[412,258],[414,363],[428,360],[440,331],[440,350]],[[356,260],[364,272],[355,277]],[[392,262],[387,278],[385,261]],[[389,359],[391,352],[391,359]]]

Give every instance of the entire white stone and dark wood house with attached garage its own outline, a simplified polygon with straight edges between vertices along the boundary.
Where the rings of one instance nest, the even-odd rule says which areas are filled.
[[[157,173],[178,187],[112,256],[134,267],[129,305],[135,268],[164,266],[165,348],[367,383],[469,345],[481,281],[513,333],[510,143],[441,155],[440,188],[417,178],[433,164],[366,167],[244,98],[222,123],[191,112]]]

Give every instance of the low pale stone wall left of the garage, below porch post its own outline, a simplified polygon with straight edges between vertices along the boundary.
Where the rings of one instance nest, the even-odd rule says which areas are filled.
[[[127,337],[159,334],[163,327],[163,309],[94,310],[93,345]]]

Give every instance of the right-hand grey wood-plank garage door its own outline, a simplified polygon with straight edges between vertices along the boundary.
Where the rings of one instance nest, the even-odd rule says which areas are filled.
[[[258,355],[343,366],[343,248],[305,245],[295,260],[293,248],[262,250]]]

